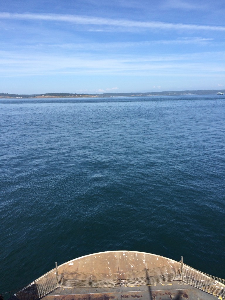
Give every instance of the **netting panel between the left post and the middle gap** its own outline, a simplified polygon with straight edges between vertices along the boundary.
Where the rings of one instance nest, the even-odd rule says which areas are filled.
[[[59,287],[113,287],[118,280],[116,274],[64,271],[58,274]]]

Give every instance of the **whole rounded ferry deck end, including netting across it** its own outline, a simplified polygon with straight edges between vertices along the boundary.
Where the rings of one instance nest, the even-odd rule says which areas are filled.
[[[183,262],[135,251],[82,256],[57,266],[13,300],[225,300],[225,280]]]

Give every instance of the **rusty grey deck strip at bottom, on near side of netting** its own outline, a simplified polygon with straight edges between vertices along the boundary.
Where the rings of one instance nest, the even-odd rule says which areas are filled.
[[[218,297],[179,281],[110,289],[58,288],[43,300],[217,300]]]

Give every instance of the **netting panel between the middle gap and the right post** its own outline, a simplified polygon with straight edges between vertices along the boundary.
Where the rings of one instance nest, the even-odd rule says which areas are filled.
[[[153,283],[161,283],[166,281],[180,280],[181,278],[181,265],[179,263],[163,266],[154,269],[146,269],[144,271],[136,271],[126,273],[127,285],[145,285]]]

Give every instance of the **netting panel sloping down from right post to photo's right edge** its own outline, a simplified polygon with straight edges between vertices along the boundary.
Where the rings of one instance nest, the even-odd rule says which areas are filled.
[[[182,281],[214,296],[225,298],[225,280],[220,279],[183,264]]]

